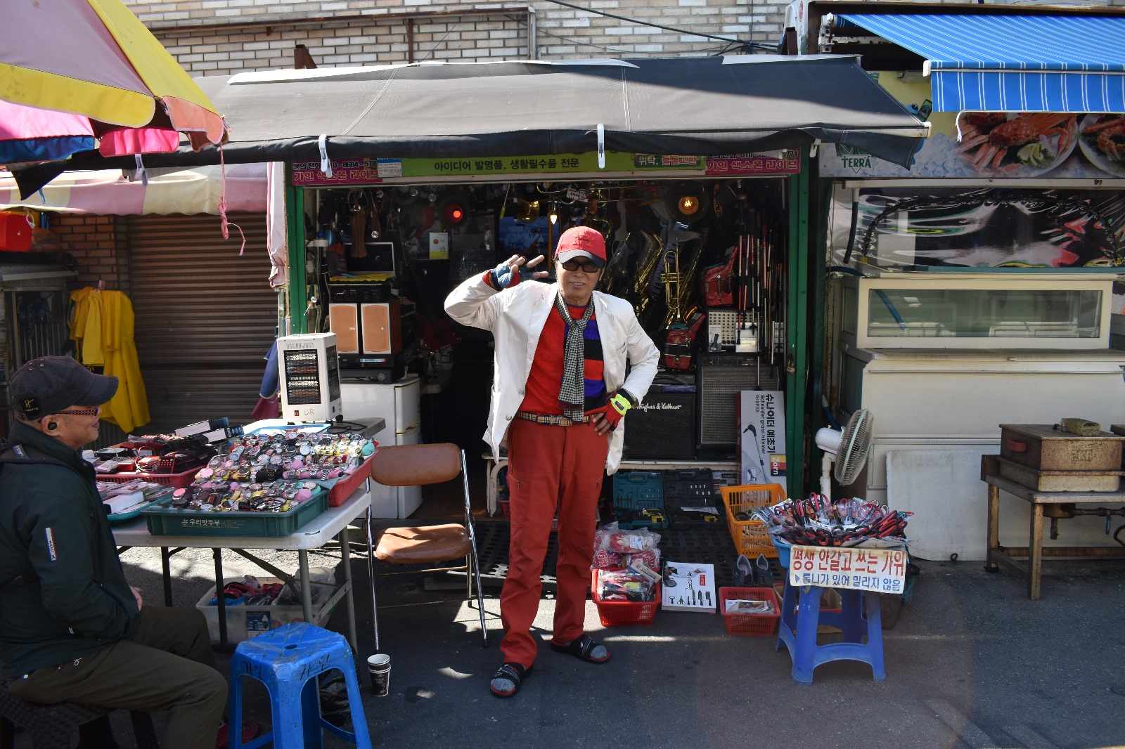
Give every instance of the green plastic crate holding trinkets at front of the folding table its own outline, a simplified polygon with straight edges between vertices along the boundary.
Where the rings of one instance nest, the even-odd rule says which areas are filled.
[[[169,497],[168,502],[171,502]],[[142,514],[152,535],[249,535],[276,539],[291,535],[328,508],[328,493],[320,489],[287,513],[216,513],[172,509],[161,504]]]

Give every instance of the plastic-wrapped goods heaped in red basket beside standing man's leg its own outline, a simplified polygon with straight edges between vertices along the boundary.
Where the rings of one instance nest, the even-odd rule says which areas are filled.
[[[593,569],[602,601],[654,601],[660,581],[660,534],[648,529],[621,530],[608,523],[594,534]]]

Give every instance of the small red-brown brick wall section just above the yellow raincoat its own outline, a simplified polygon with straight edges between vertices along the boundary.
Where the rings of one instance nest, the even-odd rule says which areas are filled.
[[[128,252],[123,219],[116,216],[60,214],[51,224],[62,242],[61,250],[78,262],[79,276],[72,286],[98,286],[129,292]]]

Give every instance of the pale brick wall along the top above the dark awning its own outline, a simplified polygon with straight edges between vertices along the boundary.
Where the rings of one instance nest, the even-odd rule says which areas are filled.
[[[536,11],[536,43],[542,60],[713,54],[723,43],[696,34],[776,44],[788,6],[788,0],[574,3],[682,29],[663,30],[543,0],[125,1],[194,75],[292,67],[296,44],[306,45],[321,67],[525,58],[528,15],[519,9],[529,6]],[[1125,6],[1125,0],[1091,0],[1089,4]],[[408,40],[406,18],[411,16],[413,39]]]

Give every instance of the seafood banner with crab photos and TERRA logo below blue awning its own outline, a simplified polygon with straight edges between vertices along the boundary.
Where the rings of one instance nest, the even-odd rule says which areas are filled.
[[[822,177],[1125,179],[1125,115],[936,112],[920,73],[873,73],[891,96],[928,119],[910,169],[844,145],[821,147]],[[961,138],[958,139],[958,128]]]

